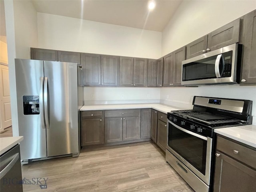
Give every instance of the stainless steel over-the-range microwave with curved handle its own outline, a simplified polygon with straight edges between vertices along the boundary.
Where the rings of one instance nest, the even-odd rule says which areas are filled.
[[[182,85],[237,84],[241,44],[232,44],[182,61]]]

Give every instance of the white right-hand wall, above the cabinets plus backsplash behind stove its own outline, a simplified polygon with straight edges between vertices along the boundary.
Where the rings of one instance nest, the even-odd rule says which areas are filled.
[[[162,55],[168,54],[254,9],[256,9],[255,0],[183,1],[162,32]],[[192,97],[195,95],[252,100],[252,115],[254,124],[256,124],[256,86],[162,88],[160,99],[165,104],[191,108]]]

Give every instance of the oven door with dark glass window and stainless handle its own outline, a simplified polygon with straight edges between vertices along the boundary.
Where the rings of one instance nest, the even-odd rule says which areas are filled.
[[[210,184],[212,138],[191,132],[168,120],[167,150],[206,184]]]

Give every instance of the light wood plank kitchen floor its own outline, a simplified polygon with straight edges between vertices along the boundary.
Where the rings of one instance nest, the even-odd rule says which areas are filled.
[[[76,158],[32,162],[22,165],[24,177],[48,178],[47,189],[23,184],[24,192],[194,192],[151,141],[84,149]]]

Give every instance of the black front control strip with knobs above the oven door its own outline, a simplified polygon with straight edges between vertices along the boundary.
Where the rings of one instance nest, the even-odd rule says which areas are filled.
[[[179,126],[180,128],[184,128],[188,131],[195,132],[202,136],[206,137],[213,137],[213,130],[210,127],[207,127],[199,122],[194,122],[193,120],[186,119],[182,116],[177,115],[167,115],[167,118],[170,122],[174,123],[175,125]]]

